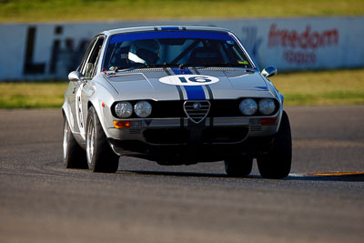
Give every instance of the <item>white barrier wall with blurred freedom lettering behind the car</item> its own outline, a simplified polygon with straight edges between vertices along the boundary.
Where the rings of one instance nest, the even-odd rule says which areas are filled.
[[[364,16],[0,25],[0,80],[63,79],[106,29],[209,25],[235,32],[258,66],[282,70],[364,66]]]

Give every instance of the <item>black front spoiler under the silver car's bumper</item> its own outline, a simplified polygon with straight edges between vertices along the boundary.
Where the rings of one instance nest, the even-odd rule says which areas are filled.
[[[163,165],[191,165],[198,162],[220,161],[238,155],[258,157],[267,154],[273,145],[274,136],[249,137],[233,145],[189,143],[155,146],[136,140],[108,138],[108,141],[119,156],[146,158]]]

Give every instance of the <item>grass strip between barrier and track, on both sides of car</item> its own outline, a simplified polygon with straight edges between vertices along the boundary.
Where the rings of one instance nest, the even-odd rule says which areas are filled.
[[[364,69],[278,74],[286,106],[364,104]],[[0,83],[0,108],[61,107],[66,82]]]

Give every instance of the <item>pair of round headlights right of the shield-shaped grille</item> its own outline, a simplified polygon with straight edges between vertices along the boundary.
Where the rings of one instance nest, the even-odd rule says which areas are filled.
[[[263,115],[271,115],[276,110],[276,104],[271,98],[260,99],[258,104],[254,99],[246,98],[240,102],[239,108],[245,116],[252,116],[257,110]]]

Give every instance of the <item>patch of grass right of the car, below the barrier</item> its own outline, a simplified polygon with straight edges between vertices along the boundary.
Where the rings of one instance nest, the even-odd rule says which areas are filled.
[[[278,74],[271,81],[288,106],[364,104],[364,69]]]

